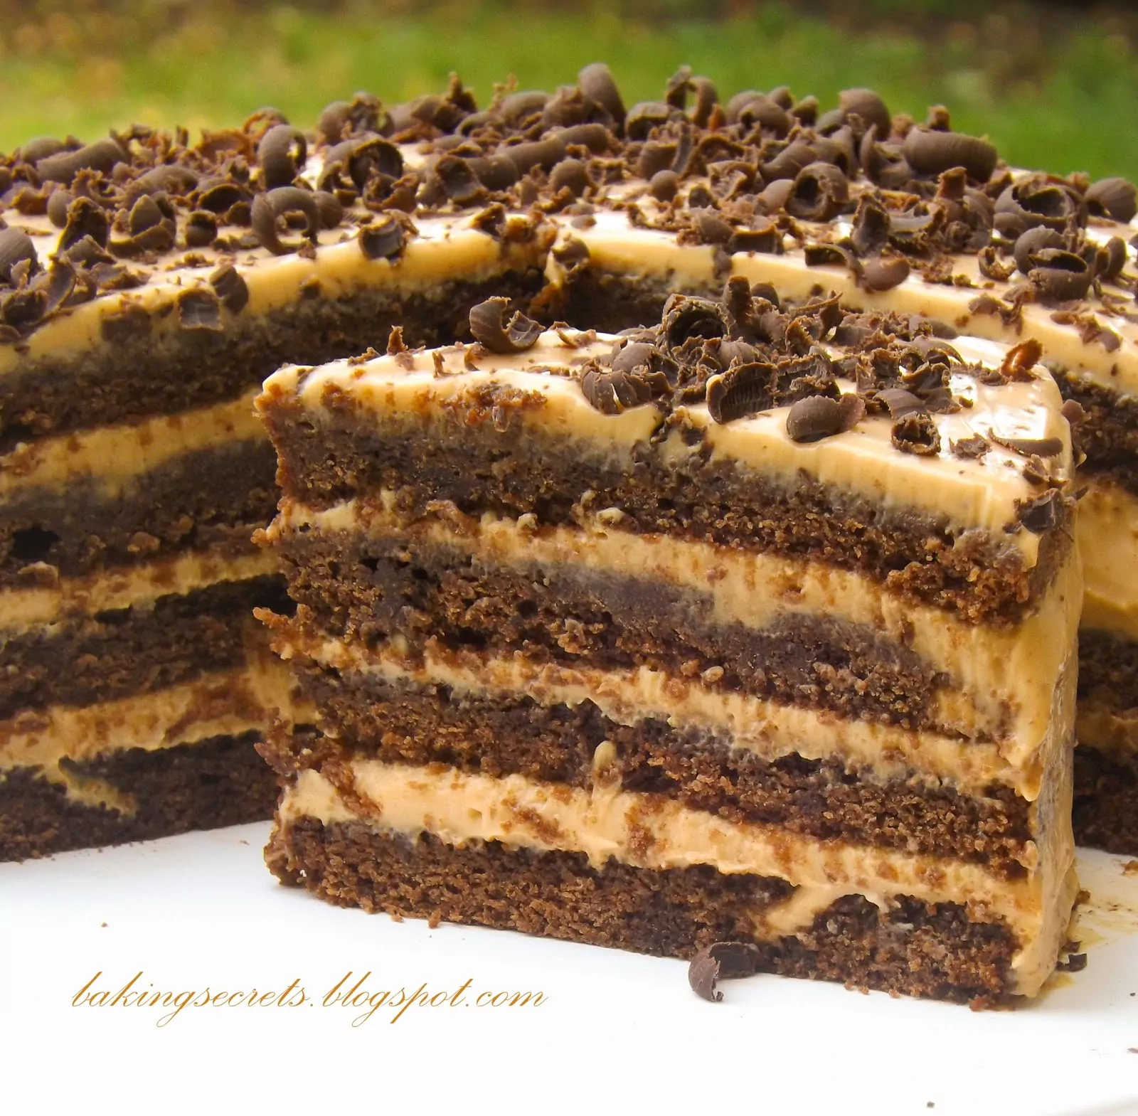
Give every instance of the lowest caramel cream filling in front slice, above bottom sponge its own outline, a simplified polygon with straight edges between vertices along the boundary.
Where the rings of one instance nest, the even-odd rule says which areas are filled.
[[[582,852],[595,868],[610,859],[652,870],[711,865],[724,874],[777,877],[816,893],[814,902],[799,899],[793,908],[776,908],[769,921],[760,915],[759,937],[808,926],[818,902],[839,893],[866,895],[881,907],[900,895],[965,903],[973,918],[1004,919],[1015,933],[1015,991],[1025,995],[1033,995],[1054,967],[1074,898],[1071,848],[1056,851],[1054,861],[1024,879],[1007,881],[979,865],[729,822],[601,780],[584,790],[518,775],[490,778],[374,760],[354,760],[349,779],[352,804],[321,774],[300,772],[282,799],[281,821],[362,820],[379,830],[430,833],[452,845],[497,841],[510,848]]]

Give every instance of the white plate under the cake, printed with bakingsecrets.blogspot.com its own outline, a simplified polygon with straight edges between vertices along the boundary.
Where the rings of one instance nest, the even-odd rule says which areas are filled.
[[[329,907],[277,884],[265,836],[0,865],[0,1111],[1138,1113],[1138,876],[1121,858],[1080,857],[1087,968],[1026,1009],[973,1012],[774,976],[706,1003],[678,961]],[[446,995],[354,1026],[366,1007],[323,1003],[349,970],[371,993]],[[107,999],[135,973],[135,991],[296,979],[307,999],[159,1026],[170,1007],[73,1007],[97,973]],[[525,991],[543,1002],[477,1003]]]

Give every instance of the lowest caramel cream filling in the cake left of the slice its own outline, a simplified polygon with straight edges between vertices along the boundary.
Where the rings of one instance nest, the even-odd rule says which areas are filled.
[[[130,809],[113,787],[61,767],[110,752],[148,752],[237,736],[269,726],[274,716],[302,720],[308,710],[294,697],[291,671],[272,655],[251,651],[245,667],[216,671],[149,694],[94,705],[52,705],[0,722],[0,776],[34,768],[60,783],[68,797]]]

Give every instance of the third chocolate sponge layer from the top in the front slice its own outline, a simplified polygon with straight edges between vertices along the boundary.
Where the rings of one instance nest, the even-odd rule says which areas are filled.
[[[971,797],[917,778],[882,782],[838,760],[764,759],[727,737],[674,728],[660,718],[621,725],[593,702],[542,705],[523,694],[479,696],[446,686],[393,685],[378,676],[344,677],[305,660],[292,664],[302,693],[321,710],[331,735],[270,731],[262,754],[282,776],[329,759],[363,757],[591,787],[594,753],[610,742],[604,777],[625,791],[660,795],[732,822],[1023,875],[1030,803],[1011,787],[988,787],[984,797]],[[339,741],[351,742],[349,749]]]

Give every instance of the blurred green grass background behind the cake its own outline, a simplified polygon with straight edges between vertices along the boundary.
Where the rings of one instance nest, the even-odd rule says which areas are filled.
[[[610,64],[627,102],[677,66],[726,100],[787,84],[832,104],[869,85],[923,119],[987,133],[1021,166],[1138,177],[1138,3],[1061,0],[0,0],[0,150],[38,134],[240,123],[263,105],[311,124],[358,89],[480,102]]]

